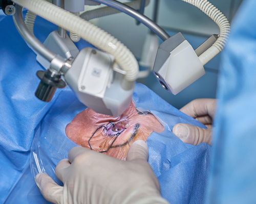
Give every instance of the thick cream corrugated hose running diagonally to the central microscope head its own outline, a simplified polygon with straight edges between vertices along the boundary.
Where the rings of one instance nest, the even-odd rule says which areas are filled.
[[[125,79],[129,82],[137,79],[139,65],[136,58],[123,43],[109,33],[45,0],[15,0],[15,3],[65,30],[77,33],[82,39],[113,55],[122,70],[126,71]]]

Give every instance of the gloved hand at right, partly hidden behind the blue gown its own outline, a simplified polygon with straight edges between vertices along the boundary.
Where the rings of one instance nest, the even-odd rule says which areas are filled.
[[[206,142],[210,145],[212,119],[214,118],[215,108],[216,99],[200,98],[191,101],[181,108],[180,111],[203,123],[208,129],[179,123],[174,126],[173,133],[187,144],[198,145],[202,142]]]

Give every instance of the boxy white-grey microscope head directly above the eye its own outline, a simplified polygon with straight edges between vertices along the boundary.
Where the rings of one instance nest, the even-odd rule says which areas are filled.
[[[82,104],[97,113],[120,116],[130,105],[135,84],[113,70],[114,58],[93,48],[83,48],[64,78]]]

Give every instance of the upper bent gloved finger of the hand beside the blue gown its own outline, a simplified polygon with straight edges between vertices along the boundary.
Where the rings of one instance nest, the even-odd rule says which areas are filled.
[[[214,117],[216,107],[216,99],[212,98],[199,98],[192,100],[186,106],[180,109],[181,112],[196,118],[198,116],[209,115]]]

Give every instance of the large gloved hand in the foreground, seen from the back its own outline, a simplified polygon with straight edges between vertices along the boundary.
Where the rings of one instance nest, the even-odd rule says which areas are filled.
[[[61,160],[55,173],[58,186],[46,173],[35,177],[42,195],[53,203],[124,204],[168,203],[150,164],[144,141],[134,142],[121,161],[83,147],[74,147],[69,159]]]

